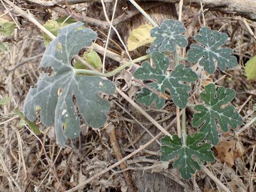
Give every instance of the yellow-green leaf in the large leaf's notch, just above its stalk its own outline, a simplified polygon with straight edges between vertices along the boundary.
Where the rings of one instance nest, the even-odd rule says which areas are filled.
[[[102,69],[102,62],[100,56],[96,51],[91,50],[89,53],[85,52],[83,55],[83,59],[87,63],[89,63],[94,69],[97,69],[98,71]],[[87,67],[84,66],[81,61],[76,61],[74,67],[76,69],[87,69]]]

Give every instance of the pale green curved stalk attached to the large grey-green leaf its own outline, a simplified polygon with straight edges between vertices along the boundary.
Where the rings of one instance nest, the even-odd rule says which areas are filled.
[[[148,58],[150,58],[150,55],[144,55],[144,56],[134,59],[132,61],[133,61],[133,63],[135,63],[135,62],[140,62],[140,61],[146,60]],[[124,68],[129,67],[131,64],[132,64],[132,62],[128,61],[128,62],[124,63],[124,65],[118,67],[117,69],[115,69],[109,73],[104,73],[104,74],[100,73],[99,71],[93,71],[93,70],[89,70],[89,69],[74,69],[74,70],[75,70],[76,74],[79,73],[79,74],[95,75],[95,76],[102,76],[102,77],[111,77],[111,76],[117,74],[119,71],[123,70]]]

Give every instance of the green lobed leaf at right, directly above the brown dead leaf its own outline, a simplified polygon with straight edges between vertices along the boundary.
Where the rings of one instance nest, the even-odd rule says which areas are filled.
[[[206,139],[213,145],[219,141],[216,119],[218,119],[222,131],[228,131],[228,125],[235,128],[243,123],[241,116],[235,111],[235,107],[228,105],[235,98],[235,90],[219,87],[217,92],[214,84],[205,86],[205,93],[200,94],[200,98],[205,105],[196,105],[192,125],[198,127],[202,125],[201,132],[205,133]]]

